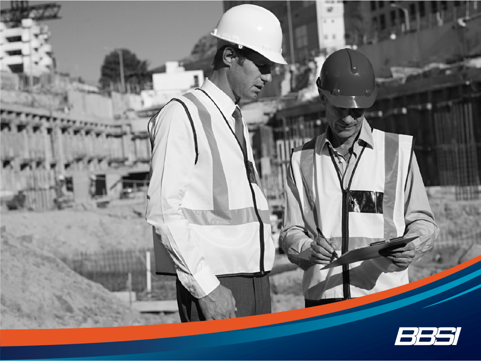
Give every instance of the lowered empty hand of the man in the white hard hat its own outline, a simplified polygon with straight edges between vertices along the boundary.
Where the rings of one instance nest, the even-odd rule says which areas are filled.
[[[235,299],[230,289],[219,284],[205,297],[199,298],[199,306],[206,320],[235,318]]]

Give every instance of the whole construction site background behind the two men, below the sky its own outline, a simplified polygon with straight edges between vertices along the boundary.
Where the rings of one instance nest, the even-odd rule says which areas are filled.
[[[224,3],[226,11],[239,2]],[[292,29],[322,23],[322,11],[342,9],[345,43],[336,47],[365,54],[377,76],[378,96],[365,117],[373,128],[415,137],[414,152],[440,228],[434,249],[410,265],[410,282],[480,255],[481,2],[275,3],[289,4],[289,13],[271,10],[281,20],[292,17],[281,21],[291,38],[286,53],[291,65],[273,69],[269,86],[240,109],[276,246],[291,149],[328,127],[316,79],[335,50],[318,39],[301,52],[297,41],[303,33]],[[364,33],[352,27],[356,9],[345,3],[366,3]],[[395,9],[389,23],[396,7],[384,3],[407,10]],[[318,9],[317,18],[310,6]],[[189,57],[152,70],[146,90],[127,89],[121,79],[105,90],[58,74],[45,60],[52,49],[47,41],[41,44],[48,33],[43,21],[55,20],[60,11],[56,4],[28,1],[0,11],[2,328],[180,322],[175,278],[155,275],[152,228],[145,221],[147,124],[171,98],[201,85],[215,42],[202,37]],[[29,47],[20,55],[13,50],[28,42],[39,43],[36,53]],[[171,78],[186,85],[172,90],[166,85]],[[278,248],[270,275],[273,312],[304,307],[302,274]]]

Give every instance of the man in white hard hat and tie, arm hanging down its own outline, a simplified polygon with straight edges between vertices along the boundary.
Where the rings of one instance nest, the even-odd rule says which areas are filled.
[[[208,79],[149,122],[146,219],[157,273],[177,277],[182,322],[271,312],[268,203],[238,102],[256,99],[271,67],[286,64],[282,30],[268,10],[240,5],[211,35]]]

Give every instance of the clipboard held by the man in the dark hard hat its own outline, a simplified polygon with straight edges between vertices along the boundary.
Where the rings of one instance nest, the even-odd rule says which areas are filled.
[[[365,261],[367,259],[380,257],[379,251],[381,249],[391,248],[391,247],[400,246],[400,245],[406,245],[407,243],[411,242],[412,240],[418,237],[419,236],[397,237],[397,238],[385,239],[383,241],[374,242],[368,246],[357,247],[342,254],[341,256],[339,256],[338,259],[334,260],[333,262],[329,263],[328,265],[326,265],[321,269],[342,266],[343,264]]]

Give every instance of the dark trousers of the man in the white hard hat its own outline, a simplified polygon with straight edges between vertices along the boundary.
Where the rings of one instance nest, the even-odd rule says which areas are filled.
[[[271,313],[271,285],[269,275],[218,277],[220,284],[230,289],[235,299],[236,317]],[[205,321],[199,300],[177,278],[177,305],[182,322]]]

